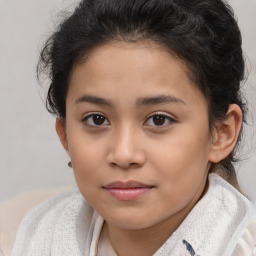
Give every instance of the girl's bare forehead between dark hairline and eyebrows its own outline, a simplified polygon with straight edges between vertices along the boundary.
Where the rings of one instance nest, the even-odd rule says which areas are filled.
[[[73,69],[70,93],[179,94],[203,99],[184,62],[152,41],[110,42],[87,54]],[[143,96],[143,95],[141,95]]]

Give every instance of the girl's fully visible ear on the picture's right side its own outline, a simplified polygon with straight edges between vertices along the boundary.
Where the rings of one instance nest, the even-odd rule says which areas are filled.
[[[236,104],[229,105],[226,118],[221,121],[213,133],[209,161],[218,163],[234,149],[242,125],[242,111]]]

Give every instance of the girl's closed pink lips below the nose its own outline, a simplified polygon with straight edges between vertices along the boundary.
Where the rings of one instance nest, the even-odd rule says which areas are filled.
[[[147,193],[153,186],[137,181],[115,181],[107,184],[104,188],[115,198],[123,201],[135,200]]]

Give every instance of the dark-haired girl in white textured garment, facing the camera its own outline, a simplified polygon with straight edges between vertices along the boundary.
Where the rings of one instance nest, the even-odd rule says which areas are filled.
[[[227,4],[84,0],[43,70],[78,189],[27,215],[13,256],[255,253],[232,164],[244,61]]]

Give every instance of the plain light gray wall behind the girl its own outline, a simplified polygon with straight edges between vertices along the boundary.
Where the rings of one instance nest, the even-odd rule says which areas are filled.
[[[39,50],[59,9],[71,0],[0,0],[0,200],[33,188],[74,183],[68,157],[44,108],[36,80]],[[243,34],[249,78],[249,128],[237,166],[243,191],[256,199],[256,0],[230,0]]]

